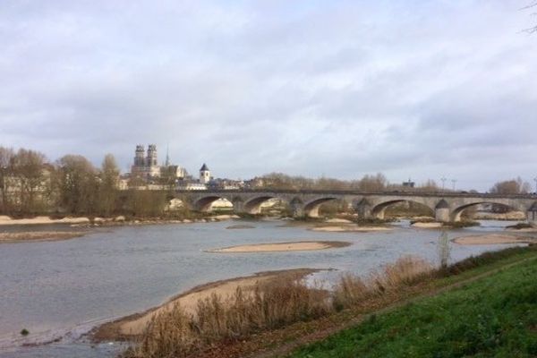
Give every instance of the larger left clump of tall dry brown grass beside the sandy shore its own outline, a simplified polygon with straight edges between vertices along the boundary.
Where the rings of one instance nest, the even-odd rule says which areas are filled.
[[[316,319],[332,311],[328,298],[327,291],[284,277],[258,282],[246,293],[238,287],[230,296],[212,294],[198,301],[192,314],[175,304],[151,320],[139,345],[124,357],[184,357],[217,342]]]

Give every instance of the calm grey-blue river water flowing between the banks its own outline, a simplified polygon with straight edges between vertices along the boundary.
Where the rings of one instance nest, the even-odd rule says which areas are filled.
[[[252,221],[251,229],[226,229],[233,224],[124,226],[66,241],[0,244],[0,357],[113,357],[120,344],[92,345],[84,334],[99,323],[145,311],[220,279],[283,268],[336,269],[313,277],[329,280],[342,271],[366,274],[403,255],[438,261],[440,231],[415,229],[407,221],[394,224],[392,231],[371,233],[313,232],[284,221]],[[482,221],[481,227],[447,234],[453,238],[500,231],[511,224]],[[303,240],[353,244],[325,251],[206,252]],[[451,259],[506,246],[452,243]],[[21,337],[22,328],[30,331],[28,337]]]

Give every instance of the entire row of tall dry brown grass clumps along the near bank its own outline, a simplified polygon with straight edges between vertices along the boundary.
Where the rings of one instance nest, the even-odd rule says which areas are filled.
[[[160,313],[124,358],[186,357],[218,343],[327,316],[359,305],[364,299],[396,294],[432,273],[428,262],[405,257],[366,278],[345,275],[331,293],[287,277],[258,283],[251,294],[244,294],[240,288],[228,297],[213,294],[200,300],[193,314],[179,305]]]

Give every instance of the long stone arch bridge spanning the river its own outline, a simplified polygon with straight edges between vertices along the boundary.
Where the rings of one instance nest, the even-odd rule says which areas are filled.
[[[218,199],[229,200],[236,213],[259,214],[261,204],[277,198],[285,201],[294,217],[319,217],[319,208],[330,200],[345,200],[362,218],[383,218],[388,206],[402,201],[420,203],[443,222],[459,221],[461,213],[474,205],[499,204],[523,211],[537,223],[537,195],[507,195],[473,192],[352,192],[314,190],[207,190],[176,191],[175,196],[198,211],[209,211]]]

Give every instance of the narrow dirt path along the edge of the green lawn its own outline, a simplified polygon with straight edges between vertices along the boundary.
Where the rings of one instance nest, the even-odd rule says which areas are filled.
[[[246,358],[276,358],[276,357],[286,356],[287,354],[290,354],[292,351],[294,351],[294,349],[298,348],[299,346],[307,345],[307,344],[310,344],[310,343],[313,343],[313,342],[316,342],[316,341],[320,341],[322,339],[325,339],[325,338],[327,338],[329,336],[332,336],[332,335],[336,334],[337,332],[339,332],[341,330],[344,330],[345,328],[354,327],[355,325],[357,325],[359,323],[362,323],[364,320],[368,320],[372,315],[379,315],[379,314],[386,313],[386,312],[389,312],[389,311],[394,311],[395,309],[397,309],[399,307],[405,306],[405,304],[415,303],[416,301],[421,300],[422,298],[431,297],[431,296],[434,296],[434,295],[437,295],[437,294],[445,293],[447,291],[459,288],[461,286],[465,286],[465,285],[467,285],[469,283],[472,283],[472,282],[477,281],[479,279],[482,279],[484,277],[489,277],[490,275],[493,275],[493,274],[495,274],[495,273],[497,273],[497,272],[499,272],[499,271],[501,271],[503,269],[511,268],[511,267],[519,265],[519,264],[521,264],[521,263],[523,263],[525,261],[536,260],[536,259],[537,259],[537,257],[531,257],[531,258],[526,258],[526,259],[522,259],[522,260],[516,260],[515,262],[508,263],[507,265],[504,265],[504,266],[502,266],[500,268],[493,268],[493,269],[491,269],[489,271],[483,272],[482,274],[466,278],[466,279],[464,279],[462,281],[458,281],[458,282],[456,282],[454,284],[444,286],[444,287],[439,287],[439,288],[436,288],[436,289],[432,289],[430,291],[423,292],[422,294],[419,294],[417,296],[413,296],[411,298],[404,299],[404,300],[398,301],[396,303],[392,303],[392,304],[388,305],[387,307],[379,309],[377,311],[371,311],[370,313],[367,313],[367,314],[358,315],[358,316],[354,317],[352,320],[346,320],[344,323],[342,323],[341,325],[338,325],[336,327],[322,329],[322,330],[319,330],[319,331],[315,331],[315,332],[313,332],[311,334],[305,334],[302,337],[300,337],[298,339],[295,339],[295,340],[293,340],[293,341],[291,341],[289,343],[286,343],[286,344],[283,344],[283,345],[278,345],[277,348],[275,348],[275,349],[265,351],[265,352],[257,352],[257,353],[254,353],[254,354],[246,355],[245,357]]]

